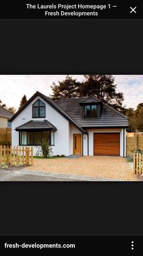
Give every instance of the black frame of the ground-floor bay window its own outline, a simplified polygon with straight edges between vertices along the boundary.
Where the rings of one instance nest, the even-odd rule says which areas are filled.
[[[21,132],[26,132],[26,142],[27,141],[27,133],[28,132],[33,132],[34,136],[33,136],[33,144],[21,144]],[[43,132],[49,132],[49,140],[50,140],[50,145],[51,146],[55,146],[55,131],[54,130],[21,130],[19,131],[19,146],[39,146],[38,144],[35,144],[35,132],[41,132],[41,140],[43,139]],[[54,144],[51,144],[51,132],[54,132]]]

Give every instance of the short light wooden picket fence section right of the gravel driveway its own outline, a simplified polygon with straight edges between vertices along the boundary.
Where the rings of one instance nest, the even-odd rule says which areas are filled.
[[[142,174],[143,173],[143,154],[133,153],[133,173]]]

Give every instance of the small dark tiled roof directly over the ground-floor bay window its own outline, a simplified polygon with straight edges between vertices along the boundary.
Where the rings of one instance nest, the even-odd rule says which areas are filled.
[[[51,124],[51,122],[44,120],[44,121],[29,121],[22,124],[22,126],[16,127],[16,130],[57,130],[57,128]]]

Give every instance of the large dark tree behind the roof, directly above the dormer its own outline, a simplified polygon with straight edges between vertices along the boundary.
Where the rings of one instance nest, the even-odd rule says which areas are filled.
[[[117,110],[123,108],[124,94],[116,92],[113,75],[84,75],[84,77],[85,81],[78,89],[80,97],[94,95]]]

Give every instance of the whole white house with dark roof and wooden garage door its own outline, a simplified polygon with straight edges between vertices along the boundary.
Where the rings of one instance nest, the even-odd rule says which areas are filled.
[[[10,119],[12,146],[50,140],[54,156],[126,156],[128,119],[94,96],[52,100],[36,92]]]

